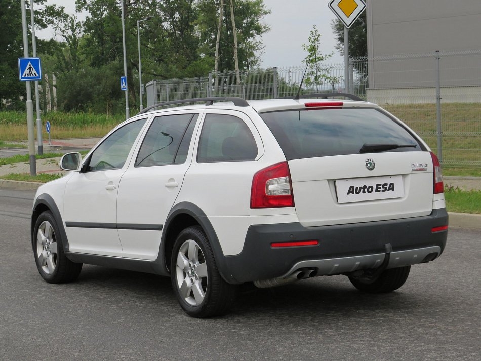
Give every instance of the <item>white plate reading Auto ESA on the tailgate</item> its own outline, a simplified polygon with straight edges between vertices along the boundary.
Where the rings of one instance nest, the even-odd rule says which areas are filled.
[[[339,203],[404,197],[402,176],[338,179],[335,183]]]

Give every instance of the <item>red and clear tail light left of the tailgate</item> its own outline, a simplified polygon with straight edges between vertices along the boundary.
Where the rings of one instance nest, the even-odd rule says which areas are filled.
[[[251,208],[293,207],[291,177],[287,162],[274,164],[254,174]]]

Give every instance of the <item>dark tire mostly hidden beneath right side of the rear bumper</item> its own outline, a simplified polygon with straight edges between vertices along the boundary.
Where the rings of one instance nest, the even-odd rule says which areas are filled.
[[[411,266],[390,268],[383,271],[379,276],[351,277],[350,282],[360,291],[367,293],[388,293],[403,286],[408,279]]]

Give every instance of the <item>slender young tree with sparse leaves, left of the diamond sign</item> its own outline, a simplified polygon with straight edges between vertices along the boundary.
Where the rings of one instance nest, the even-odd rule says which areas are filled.
[[[302,49],[307,52],[307,56],[303,61],[307,66],[304,83],[308,88],[315,87],[316,91],[319,90],[319,85],[337,81],[335,77],[330,75],[331,68],[323,65],[323,62],[332,57],[334,52],[331,54],[320,52],[320,37],[321,34],[314,25],[309,32],[307,44],[302,44]]]

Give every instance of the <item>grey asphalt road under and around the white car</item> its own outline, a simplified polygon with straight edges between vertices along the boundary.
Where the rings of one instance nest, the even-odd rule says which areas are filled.
[[[84,266],[49,285],[29,243],[33,192],[0,188],[0,360],[479,360],[481,231],[451,229],[438,260],[387,295],[347,277],[245,293],[188,317],[168,278]]]

